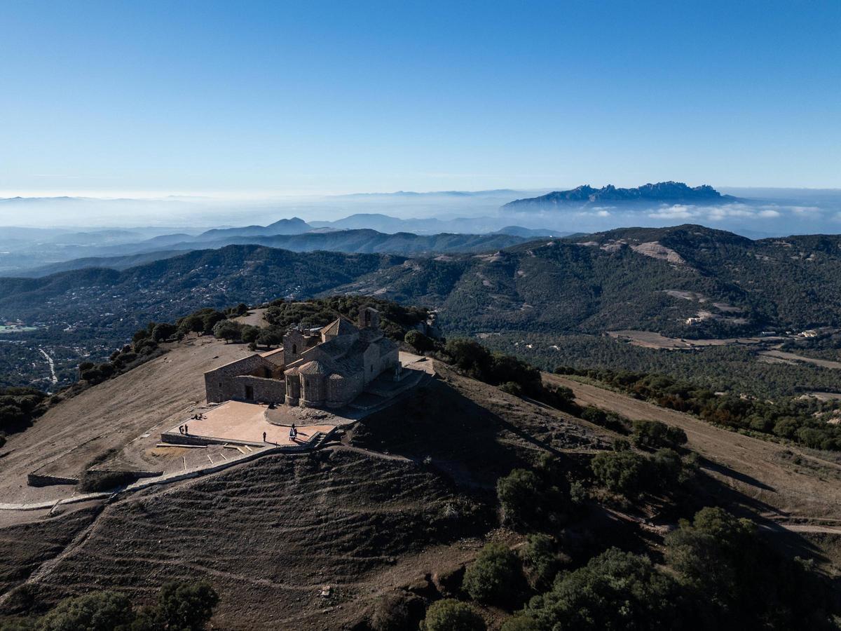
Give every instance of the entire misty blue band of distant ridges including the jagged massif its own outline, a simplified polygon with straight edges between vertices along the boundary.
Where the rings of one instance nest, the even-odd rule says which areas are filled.
[[[755,191],[755,193],[754,193]],[[172,227],[16,228],[0,229],[0,275],[29,276],[78,269],[89,264],[124,269],[139,262],[171,257],[177,252],[257,244],[296,252],[314,248],[343,252],[390,252],[417,256],[431,253],[479,252],[516,241],[465,238],[409,239],[383,235],[410,233],[436,237],[564,236],[601,232],[617,225],[662,226],[680,223],[713,225],[750,238],[792,233],[837,233],[841,191],[794,189],[729,189],[723,194],[709,185],[690,187],[664,182],[637,188],[579,186],[547,192],[499,189],[478,192],[398,192],[356,194],[295,201],[246,202],[235,212],[204,198],[0,199],[0,224],[56,217],[94,222],[100,217],[154,214]],[[515,195],[521,199],[511,201]],[[534,195],[534,196],[532,196]],[[735,197],[734,195],[738,195]],[[759,197],[761,195],[761,197]],[[226,202],[225,204],[228,204]],[[224,209],[224,210],[223,210]],[[305,220],[342,216],[338,220]],[[233,214],[231,214],[233,212]],[[198,216],[199,221],[190,218]],[[209,221],[225,217],[211,229]],[[230,217],[248,217],[243,225]],[[284,217],[278,220],[278,217]],[[267,218],[267,219],[265,219]],[[246,225],[247,224],[247,225]],[[202,227],[198,227],[202,226]],[[375,231],[343,236],[312,236],[338,231]],[[300,237],[298,239],[286,237]],[[465,249],[458,250],[456,248]],[[143,256],[140,256],[143,255]],[[77,260],[85,259],[85,260]],[[105,260],[108,259],[108,260]]]

